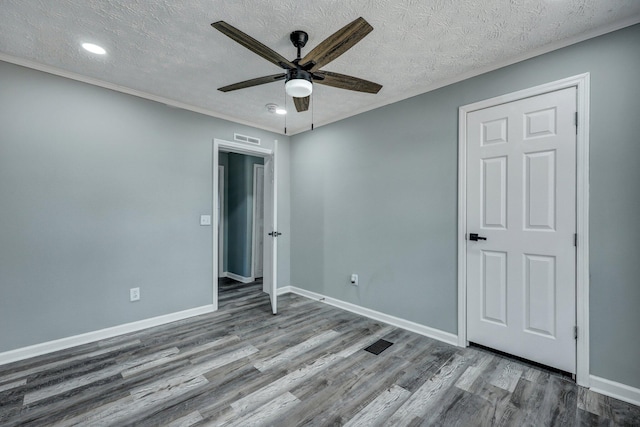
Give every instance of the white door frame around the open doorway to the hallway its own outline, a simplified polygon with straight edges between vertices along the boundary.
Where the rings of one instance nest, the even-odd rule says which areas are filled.
[[[277,141],[274,142],[274,144],[277,144]],[[237,153],[237,154],[244,154],[247,156],[256,156],[256,157],[262,157],[262,158],[272,158],[274,161],[274,170],[273,170],[273,174],[274,174],[274,183],[272,185],[274,185],[274,212],[277,212],[277,205],[276,205],[276,198],[275,198],[275,185],[276,185],[276,181],[275,181],[275,175],[276,175],[276,170],[275,170],[275,150],[270,150],[267,148],[262,148],[262,147],[252,147],[252,146],[248,146],[246,144],[241,144],[241,143],[237,143],[237,142],[231,142],[231,141],[225,141],[222,139],[214,139],[213,140],[213,167],[215,168],[219,161],[220,161],[220,151],[224,151],[224,152],[228,152],[228,153]],[[217,169],[215,169],[217,171]],[[213,224],[218,224],[218,173],[213,173],[213,206],[212,206],[212,212],[213,212]],[[275,215],[274,215],[275,216]],[[275,221],[275,218],[274,218]],[[218,270],[219,270],[219,266],[218,266],[218,254],[217,254],[217,248],[218,248],[218,227],[211,227],[212,228],[212,232],[213,232],[213,280],[212,280],[212,287],[213,287],[213,301],[212,301],[212,305],[213,305],[213,309],[218,310]],[[274,254],[275,256],[275,254]],[[274,269],[273,272],[273,280],[275,282],[276,280],[276,271]]]

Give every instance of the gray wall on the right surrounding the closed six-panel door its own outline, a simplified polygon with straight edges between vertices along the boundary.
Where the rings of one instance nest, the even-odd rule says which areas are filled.
[[[292,285],[456,333],[458,107],[590,72],[591,373],[640,387],[638,46],[636,25],[294,136]]]

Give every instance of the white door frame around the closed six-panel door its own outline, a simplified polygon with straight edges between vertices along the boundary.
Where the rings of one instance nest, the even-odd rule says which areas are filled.
[[[459,108],[458,115],[458,345],[467,341],[467,114],[543,93],[576,87],[576,382],[589,387],[589,73],[497,96]]]

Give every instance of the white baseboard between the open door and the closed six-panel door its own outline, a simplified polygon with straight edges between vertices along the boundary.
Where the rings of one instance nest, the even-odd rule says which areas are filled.
[[[439,329],[430,328],[428,326],[424,326],[419,323],[411,322],[409,320],[401,319],[399,317],[391,316],[385,313],[381,313],[379,311],[361,307],[356,304],[351,304],[349,302],[341,301],[339,299],[327,297],[321,294],[317,294],[315,292],[307,291],[305,289],[296,288],[295,286],[285,286],[282,288],[278,288],[278,295],[282,295],[289,292],[309,298],[309,299],[324,302],[326,304],[333,305],[334,307],[338,307],[343,310],[350,311],[352,313],[359,314],[361,316],[365,316],[373,320],[378,320],[380,322],[388,323],[389,325],[397,326],[398,328],[406,329],[408,331],[415,332],[417,334],[424,335],[425,337],[433,338],[438,341],[445,342],[447,344],[451,344],[455,346],[458,345],[458,336],[449,332],[444,332]]]

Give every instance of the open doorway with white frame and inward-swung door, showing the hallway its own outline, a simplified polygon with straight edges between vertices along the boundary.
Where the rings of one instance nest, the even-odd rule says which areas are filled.
[[[214,140],[213,160],[218,167],[213,174],[214,305],[264,291],[275,314],[275,148]]]

